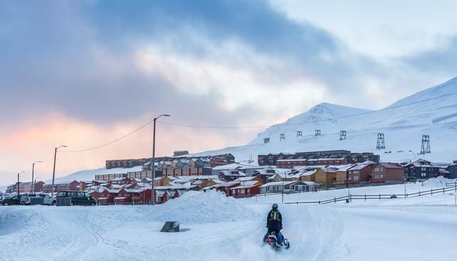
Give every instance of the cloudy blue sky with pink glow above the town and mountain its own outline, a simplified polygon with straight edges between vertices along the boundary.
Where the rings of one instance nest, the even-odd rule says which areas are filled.
[[[456,77],[456,1],[1,1],[0,185],[243,145],[318,103],[379,109]],[[177,123],[178,126],[170,123]],[[246,160],[246,159],[237,159]]]

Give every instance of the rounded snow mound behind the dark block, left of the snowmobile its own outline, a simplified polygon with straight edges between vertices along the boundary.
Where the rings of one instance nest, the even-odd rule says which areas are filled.
[[[178,220],[188,224],[246,220],[256,216],[253,210],[234,198],[211,190],[205,193],[189,191],[152,211],[154,220]]]

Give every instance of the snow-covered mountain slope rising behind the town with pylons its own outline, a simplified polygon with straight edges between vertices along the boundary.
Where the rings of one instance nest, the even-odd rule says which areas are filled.
[[[285,123],[267,128],[248,145],[196,155],[232,153],[236,160],[248,160],[263,153],[345,149],[379,153],[381,160],[414,160],[419,158],[422,135],[426,134],[431,136],[432,153],[420,158],[452,162],[457,160],[456,94],[457,78],[453,78],[379,111],[321,103]],[[314,135],[316,129],[321,130],[321,136]],[[297,137],[297,131],[303,136]],[[339,139],[339,131],[346,131],[346,140]],[[281,133],[286,135],[286,140],[280,140]],[[378,133],[386,135],[386,150],[376,150]],[[263,143],[264,138],[270,138],[270,142]],[[385,153],[388,151],[391,153]]]

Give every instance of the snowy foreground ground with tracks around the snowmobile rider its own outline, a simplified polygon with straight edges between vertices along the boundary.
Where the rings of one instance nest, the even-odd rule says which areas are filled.
[[[441,181],[407,189],[440,188]],[[286,201],[343,192],[286,195]],[[291,241],[291,249],[282,252],[261,245],[266,212],[271,203],[281,203],[280,195],[234,200],[219,193],[187,193],[155,207],[0,207],[1,260],[453,260],[454,200],[453,193],[445,193],[351,204],[280,204],[283,233]],[[159,232],[165,220],[181,221],[184,231]]]

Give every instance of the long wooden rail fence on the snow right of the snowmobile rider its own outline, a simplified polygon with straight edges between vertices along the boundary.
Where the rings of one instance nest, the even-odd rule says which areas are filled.
[[[453,185],[451,185],[453,184]],[[445,194],[446,192],[453,191],[457,195],[457,182],[456,183],[446,183],[444,188],[436,188],[431,190],[419,191],[417,193],[406,193],[406,194],[378,194],[378,195],[346,195],[340,198],[331,198],[328,200],[318,200],[318,201],[297,201],[297,202],[286,202],[284,204],[330,204],[338,202],[350,203],[352,200],[391,200],[394,198],[417,198],[426,195],[436,195],[436,194]]]

